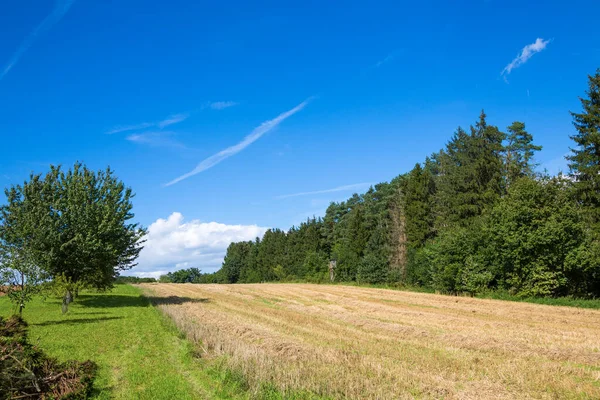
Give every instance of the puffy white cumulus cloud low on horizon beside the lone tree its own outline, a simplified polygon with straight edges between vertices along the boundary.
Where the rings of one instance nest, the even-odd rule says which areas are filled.
[[[190,267],[213,272],[221,266],[230,243],[254,240],[267,229],[199,220],[184,222],[183,215],[174,212],[150,225],[138,265],[127,274],[156,277]]]

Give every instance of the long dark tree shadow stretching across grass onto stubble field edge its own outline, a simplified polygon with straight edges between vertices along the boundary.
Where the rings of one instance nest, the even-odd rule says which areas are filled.
[[[100,295],[81,295],[75,301],[83,307],[148,307],[152,305],[163,304],[184,304],[184,303],[207,303],[209,300],[204,298],[193,299],[190,297],[155,297],[155,296],[124,296],[120,294],[100,294]]]

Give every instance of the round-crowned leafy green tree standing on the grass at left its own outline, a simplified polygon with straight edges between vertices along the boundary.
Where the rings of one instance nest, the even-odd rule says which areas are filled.
[[[6,190],[0,208],[0,241],[27,250],[32,262],[72,287],[112,287],[120,271],[135,265],[146,230],[132,223],[133,192],[114,172],[76,163],[50,166]]]

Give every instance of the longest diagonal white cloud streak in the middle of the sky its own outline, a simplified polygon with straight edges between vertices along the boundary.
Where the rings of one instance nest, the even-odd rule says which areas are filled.
[[[265,133],[276,128],[283,121],[285,121],[292,115],[296,114],[297,112],[301,111],[304,107],[306,107],[306,105],[311,100],[312,100],[312,97],[304,100],[302,103],[298,104],[296,107],[292,108],[291,110],[283,112],[283,113],[279,114],[277,117],[263,122],[258,127],[254,128],[254,130],[248,136],[246,136],[244,138],[244,140],[242,140],[238,144],[228,147],[224,150],[221,150],[220,152],[213,154],[212,156],[204,159],[202,162],[200,162],[200,164],[198,164],[196,166],[196,168],[194,168],[187,174],[183,174],[180,177],[173,179],[171,182],[167,183],[165,186],[174,185],[178,182],[181,182],[184,179],[187,179],[191,176],[199,174],[200,172],[206,171],[207,169],[214,167],[221,161],[239,153],[240,151],[244,150],[246,147],[250,146],[252,143],[256,142],[258,139],[260,139],[261,136],[263,136]]]

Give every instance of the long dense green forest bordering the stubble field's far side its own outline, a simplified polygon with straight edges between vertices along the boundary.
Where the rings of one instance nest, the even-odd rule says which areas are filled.
[[[222,268],[172,282],[329,279],[404,283],[444,293],[600,296],[600,69],[589,77],[570,174],[537,173],[525,124],[506,132],[482,111],[408,173],[331,203],[324,218],[232,243]]]

